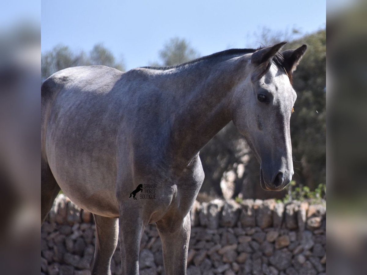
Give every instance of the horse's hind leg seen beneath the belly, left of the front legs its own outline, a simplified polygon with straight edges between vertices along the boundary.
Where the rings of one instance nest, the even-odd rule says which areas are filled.
[[[93,214],[96,229],[91,274],[111,275],[111,259],[119,239],[119,220]]]

